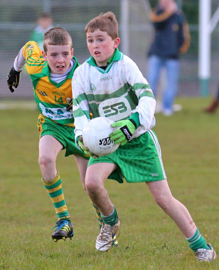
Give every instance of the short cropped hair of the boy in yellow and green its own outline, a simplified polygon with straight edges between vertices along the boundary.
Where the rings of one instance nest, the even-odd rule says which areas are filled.
[[[45,53],[47,52],[47,45],[68,45],[71,44],[72,48],[72,38],[64,28],[53,27],[49,29],[43,37],[43,49]]]

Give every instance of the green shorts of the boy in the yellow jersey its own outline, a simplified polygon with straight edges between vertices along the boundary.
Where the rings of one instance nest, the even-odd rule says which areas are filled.
[[[73,126],[59,125],[40,114],[37,127],[40,138],[44,135],[51,135],[63,145],[63,149],[66,149],[66,157],[69,155],[79,155],[82,158],[89,159],[89,156],[75,145]]]

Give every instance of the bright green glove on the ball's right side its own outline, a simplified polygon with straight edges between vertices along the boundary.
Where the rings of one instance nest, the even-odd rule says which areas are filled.
[[[125,145],[131,139],[136,129],[136,124],[132,119],[121,120],[111,124],[111,127],[117,126],[120,126],[120,128],[110,134],[110,141],[114,141],[115,144]]]

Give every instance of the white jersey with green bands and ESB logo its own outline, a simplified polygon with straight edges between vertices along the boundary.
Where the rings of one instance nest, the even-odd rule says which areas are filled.
[[[75,142],[84,126],[95,117],[125,120],[139,113],[140,126],[132,139],[155,125],[156,101],[141,71],[128,56],[116,49],[106,70],[92,56],[75,71],[72,80]]]

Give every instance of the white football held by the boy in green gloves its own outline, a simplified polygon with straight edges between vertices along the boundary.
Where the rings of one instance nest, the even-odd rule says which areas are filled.
[[[111,127],[114,121],[106,117],[96,117],[84,127],[83,144],[97,156],[106,156],[113,153],[120,144],[110,141],[110,133],[118,127]]]

